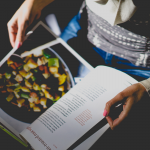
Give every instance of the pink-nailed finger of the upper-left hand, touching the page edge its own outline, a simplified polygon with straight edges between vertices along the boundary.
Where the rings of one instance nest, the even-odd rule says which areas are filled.
[[[15,48],[19,48],[20,46],[22,46],[25,37],[25,30],[26,30],[25,23],[18,26]]]

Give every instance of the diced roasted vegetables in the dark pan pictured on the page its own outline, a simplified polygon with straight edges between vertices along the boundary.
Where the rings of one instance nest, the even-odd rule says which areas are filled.
[[[0,70],[0,93],[8,103],[41,112],[67,92],[67,74],[48,49],[25,58],[12,56]]]

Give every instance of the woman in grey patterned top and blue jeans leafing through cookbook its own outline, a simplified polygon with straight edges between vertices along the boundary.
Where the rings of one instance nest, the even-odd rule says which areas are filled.
[[[13,47],[19,48],[23,44],[26,29],[35,19],[40,17],[42,9],[52,1],[24,1],[8,22],[9,38]],[[122,69],[122,71],[129,74],[132,74],[134,69],[136,75],[149,78],[148,36],[150,34],[147,32],[149,24],[146,23],[147,20],[144,20],[147,17],[142,18],[144,21],[143,25],[136,25],[138,24],[137,21],[139,21],[136,17],[143,10],[142,8],[145,8],[145,3],[146,1],[136,0],[98,0],[96,2],[86,0],[89,24],[88,39],[96,46],[95,50],[100,55],[105,53],[106,63],[109,56],[112,62],[117,59],[119,60],[116,61],[117,63],[121,62],[122,65],[119,65],[119,67],[125,66],[125,68],[117,69]],[[137,9],[139,5],[142,6],[141,10],[140,7]],[[80,11],[82,12],[82,9]],[[143,13],[143,15],[149,15],[148,9],[144,9],[144,12],[145,14]],[[126,60],[128,64],[123,63]],[[127,66],[130,69],[126,69]],[[150,92],[150,79],[131,85],[106,103],[103,115],[106,117],[112,130],[128,116],[134,104],[142,100],[147,92]],[[122,102],[124,104],[123,111],[117,119],[113,120],[109,113],[112,108]]]

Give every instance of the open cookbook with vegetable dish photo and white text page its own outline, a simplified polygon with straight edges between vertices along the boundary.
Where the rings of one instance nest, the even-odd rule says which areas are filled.
[[[108,124],[71,146],[104,118],[107,101],[137,83],[110,67],[94,69],[42,22],[13,51],[0,64],[0,128],[32,149],[89,149]]]

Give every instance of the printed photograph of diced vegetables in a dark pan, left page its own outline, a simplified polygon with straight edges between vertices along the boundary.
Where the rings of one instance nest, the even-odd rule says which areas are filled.
[[[25,123],[36,120],[90,72],[61,43],[28,55],[35,43],[34,35],[29,36],[0,69],[1,109]]]

